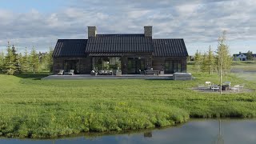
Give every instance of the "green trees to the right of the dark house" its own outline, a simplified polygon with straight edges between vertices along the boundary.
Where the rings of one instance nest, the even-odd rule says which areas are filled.
[[[194,54],[194,71],[207,72],[208,74],[220,73],[226,75],[230,72],[233,57],[230,55],[229,46],[226,44],[226,31],[218,38],[218,47],[213,51],[211,46],[203,54]]]

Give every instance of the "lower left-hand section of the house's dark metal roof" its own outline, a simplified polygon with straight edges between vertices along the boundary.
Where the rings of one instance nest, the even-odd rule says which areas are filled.
[[[53,57],[86,57],[87,39],[58,39]]]

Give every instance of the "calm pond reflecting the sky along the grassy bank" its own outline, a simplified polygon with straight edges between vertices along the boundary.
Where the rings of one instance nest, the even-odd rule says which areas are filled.
[[[163,129],[126,134],[84,134],[74,138],[51,140],[0,138],[5,144],[71,143],[255,143],[255,119],[192,119],[185,124]]]

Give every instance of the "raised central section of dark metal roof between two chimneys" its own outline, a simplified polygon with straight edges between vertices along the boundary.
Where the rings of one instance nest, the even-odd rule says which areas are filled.
[[[86,53],[152,53],[152,38],[144,34],[97,34],[88,38]]]

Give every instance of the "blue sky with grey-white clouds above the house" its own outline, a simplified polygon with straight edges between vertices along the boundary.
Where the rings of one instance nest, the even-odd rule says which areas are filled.
[[[0,0],[0,50],[9,41],[43,52],[58,38],[87,38],[87,26],[101,34],[153,26],[154,38],[184,38],[189,54],[215,50],[227,30],[231,54],[256,53],[255,0]]]

